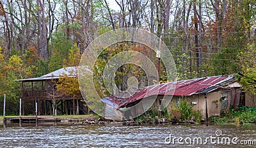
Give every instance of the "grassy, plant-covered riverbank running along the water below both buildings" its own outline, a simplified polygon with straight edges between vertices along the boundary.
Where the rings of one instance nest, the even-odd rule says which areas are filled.
[[[181,110],[182,111],[182,110]],[[189,118],[188,118],[189,117]],[[182,120],[180,117],[173,117],[171,114],[156,115],[154,112],[148,112],[147,115],[143,114],[136,119],[129,121],[111,121],[104,119],[99,115],[88,114],[88,115],[35,115],[21,116],[21,122],[79,122],[81,124],[105,124],[106,122],[121,123],[124,125],[134,124],[256,124],[256,108],[255,107],[237,107],[236,109],[231,108],[229,112],[221,112],[220,116],[212,116],[208,121],[200,122],[200,112],[198,115],[191,114]],[[19,116],[6,116],[6,122],[20,122]],[[0,116],[0,122],[3,122],[3,116]]]

